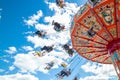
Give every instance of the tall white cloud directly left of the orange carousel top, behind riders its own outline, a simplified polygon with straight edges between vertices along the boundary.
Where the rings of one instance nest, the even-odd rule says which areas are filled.
[[[46,2],[49,5],[49,9],[51,11],[55,11],[53,16],[44,17],[44,22],[48,22],[48,25],[40,24],[38,22],[35,23],[35,28],[37,30],[44,30],[47,32],[46,38],[39,38],[37,36],[27,36],[27,40],[32,42],[35,46],[40,47],[43,45],[52,45],[52,44],[65,44],[70,40],[70,24],[73,18],[73,15],[78,10],[76,4],[66,3],[67,6],[64,9],[58,8],[55,3]],[[37,15],[36,15],[37,16]],[[31,16],[34,17],[34,16]],[[58,33],[53,29],[53,25],[51,25],[52,21],[59,22],[62,25],[65,25],[65,30]],[[28,21],[33,21],[33,19],[29,19]],[[27,20],[26,20],[27,22]],[[29,25],[29,23],[27,23]]]

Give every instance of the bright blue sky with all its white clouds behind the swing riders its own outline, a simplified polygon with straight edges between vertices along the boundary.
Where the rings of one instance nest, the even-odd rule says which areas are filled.
[[[64,80],[73,80],[76,75],[80,80],[97,80],[100,77],[117,80],[113,66],[92,63],[76,52],[69,57],[61,48],[65,43],[71,45],[70,23],[79,6],[85,2],[65,0],[66,6],[60,9],[54,0],[0,0],[0,79],[58,80],[55,75],[63,69],[61,62],[65,62],[73,71]],[[52,20],[65,25],[66,30],[54,31]],[[33,35],[37,30],[46,31],[47,36],[39,38]],[[55,49],[45,56],[32,55],[44,45],[52,44],[55,44]],[[55,65],[52,69],[44,70],[46,63],[53,60]]]

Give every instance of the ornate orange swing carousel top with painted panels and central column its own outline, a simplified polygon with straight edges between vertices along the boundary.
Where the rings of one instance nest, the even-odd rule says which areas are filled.
[[[88,60],[113,64],[120,79],[120,0],[88,0],[71,27],[73,48]]]

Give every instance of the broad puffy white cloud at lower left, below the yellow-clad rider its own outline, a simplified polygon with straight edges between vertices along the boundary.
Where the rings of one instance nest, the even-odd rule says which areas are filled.
[[[46,63],[55,61],[53,68],[58,68],[58,65],[62,62],[60,58],[56,58],[54,54],[52,55],[52,53],[53,52],[46,54],[43,57],[34,56],[32,52],[29,52],[28,54],[17,54],[14,57],[14,66],[18,67],[21,70],[20,72],[36,73],[36,71],[41,71],[47,73],[48,70],[44,69],[47,66]]]

